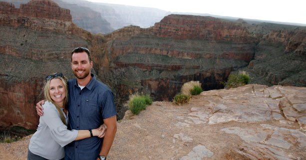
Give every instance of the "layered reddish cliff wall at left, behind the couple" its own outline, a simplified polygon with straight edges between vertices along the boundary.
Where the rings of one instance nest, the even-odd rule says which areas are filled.
[[[0,19],[0,127],[36,128],[34,105],[43,99],[44,76],[63,72],[72,78],[71,50],[100,37],[77,27],[68,9],[48,0],[20,8],[1,2]]]

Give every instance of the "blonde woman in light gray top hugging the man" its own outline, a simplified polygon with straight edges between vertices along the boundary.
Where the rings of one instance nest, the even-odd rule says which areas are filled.
[[[44,114],[30,139],[27,159],[64,159],[64,147],[73,140],[98,136],[101,130],[68,130],[67,78],[62,73],[46,76]],[[104,126],[105,127],[105,126]],[[103,135],[104,136],[104,135]]]

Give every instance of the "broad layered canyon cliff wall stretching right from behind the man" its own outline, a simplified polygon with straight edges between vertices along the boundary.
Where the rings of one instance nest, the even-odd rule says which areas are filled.
[[[135,91],[172,100],[190,80],[201,81],[205,90],[221,88],[239,68],[254,82],[305,86],[304,32],[305,27],[171,14],[150,28],[127,26],[105,34],[95,68],[120,90],[122,102]]]

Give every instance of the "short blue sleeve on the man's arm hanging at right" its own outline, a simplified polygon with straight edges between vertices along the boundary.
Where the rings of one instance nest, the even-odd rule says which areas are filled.
[[[106,90],[102,96],[102,118],[106,119],[117,114],[113,92]]]

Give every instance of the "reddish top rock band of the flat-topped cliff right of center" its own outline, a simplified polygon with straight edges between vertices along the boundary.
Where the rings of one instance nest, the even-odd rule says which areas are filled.
[[[170,14],[153,26],[157,36],[178,39],[230,40],[251,42],[248,29],[241,23],[210,16]]]

